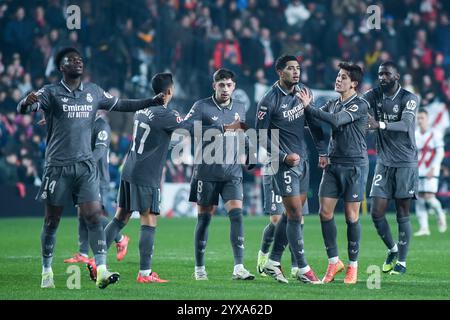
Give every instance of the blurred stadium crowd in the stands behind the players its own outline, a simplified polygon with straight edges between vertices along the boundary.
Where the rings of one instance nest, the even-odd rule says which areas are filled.
[[[28,92],[59,80],[53,59],[65,46],[85,57],[85,81],[92,79],[116,96],[151,96],[151,76],[170,70],[177,86],[174,105],[182,114],[193,101],[211,94],[214,70],[231,69],[249,98],[251,125],[256,103],[276,80],[273,64],[282,53],[299,58],[302,82],[323,90],[333,88],[341,60],[364,67],[363,88],[376,84],[381,62],[394,60],[403,87],[420,96],[421,106],[439,102],[448,107],[450,1],[379,1],[379,30],[366,24],[369,2],[74,1],[81,8],[81,28],[70,31],[66,1],[0,1],[0,184],[41,183],[46,135],[38,123],[42,114],[19,115],[16,106]],[[110,173],[116,183],[132,117],[110,115]],[[450,180],[446,161],[445,188]],[[190,167],[171,160],[168,164],[166,181],[189,180]]]

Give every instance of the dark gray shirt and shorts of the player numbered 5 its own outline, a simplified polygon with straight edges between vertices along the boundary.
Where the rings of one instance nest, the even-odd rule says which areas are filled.
[[[295,86],[294,92],[285,92],[275,83],[258,104],[256,129],[259,139],[267,138],[267,151],[275,193],[281,196],[295,196],[309,189],[309,162],[305,141],[305,126],[309,127],[319,154],[326,154],[326,144],[320,124],[305,114],[305,109],[296,93],[303,84]],[[307,89],[309,90],[309,89]],[[262,130],[267,130],[264,137]],[[277,133],[274,135],[273,133]],[[275,149],[272,148],[273,147]],[[273,150],[272,150],[273,149]],[[284,160],[288,154],[300,156],[300,164],[290,167]],[[269,173],[270,174],[270,173]]]

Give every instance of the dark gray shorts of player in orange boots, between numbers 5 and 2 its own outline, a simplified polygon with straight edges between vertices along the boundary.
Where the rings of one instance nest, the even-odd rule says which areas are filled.
[[[322,174],[319,197],[339,199],[345,202],[364,200],[369,167],[331,163]]]

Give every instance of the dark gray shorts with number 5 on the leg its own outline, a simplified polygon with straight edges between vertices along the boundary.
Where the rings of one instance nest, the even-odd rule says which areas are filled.
[[[309,189],[309,163],[303,158],[297,167],[281,164],[274,175],[274,191],[282,197],[298,196]]]

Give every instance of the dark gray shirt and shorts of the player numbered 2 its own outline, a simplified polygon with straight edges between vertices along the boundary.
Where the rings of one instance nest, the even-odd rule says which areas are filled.
[[[380,88],[364,94],[375,120],[386,123],[376,130],[377,165],[370,191],[371,197],[386,199],[415,198],[418,183],[415,118],[419,100],[399,87],[392,97]]]

